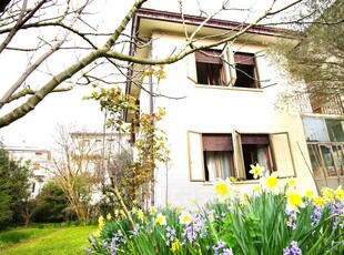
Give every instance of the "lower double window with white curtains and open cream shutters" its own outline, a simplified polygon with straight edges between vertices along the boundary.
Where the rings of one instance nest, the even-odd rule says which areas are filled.
[[[294,176],[287,133],[209,134],[189,132],[191,181],[215,181],[233,176],[252,180],[251,164],[279,171],[281,177]]]

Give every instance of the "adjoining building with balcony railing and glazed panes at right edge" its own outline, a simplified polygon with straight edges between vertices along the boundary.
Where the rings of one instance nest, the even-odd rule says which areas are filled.
[[[304,96],[300,111],[317,186],[344,185],[343,96]]]

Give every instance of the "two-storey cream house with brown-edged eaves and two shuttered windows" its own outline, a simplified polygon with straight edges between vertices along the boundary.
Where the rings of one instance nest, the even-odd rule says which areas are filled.
[[[178,51],[201,17],[151,9],[138,11],[132,34],[151,42],[150,51],[132,48],[141,58],[161,59]],[[195,43],[211,43],[243,27],[242,23],[210,20]],[[217,34],[216,37],[214,37]],[[136,64],[127,93],[140,101],[144,112],[162,106],[166,116],[159,123],[171,145],[171,164],[156,169],[154,205],[190,205],[213,197],[214,182],[233,176],[233,185],[250,192],[259,184],[249,173],[259,163],[290,177],[301,191],[316,192],[303,119],[295,110],[274,108],[279,89],[276,67],[265,59],[266,42],[281,37],[270,28],[254,27],[231,44],[195,52],[164,67],[165,79],[139,75]],[[202,38],[202,39],[201,39]],[[234,68],[235,67],[235,68]],[[144,90],[143,90],[143,89]],[[160,96],[152,99],[151,91]],[[166,95],[166,96],[163,96]],[[127,121],[132,120],[130,113]]]

